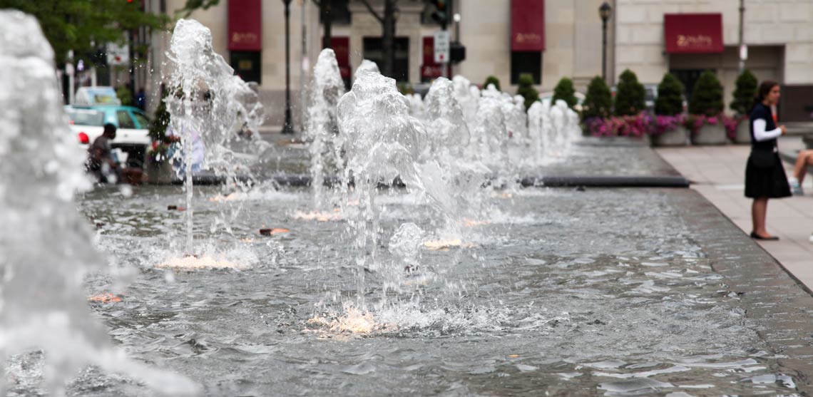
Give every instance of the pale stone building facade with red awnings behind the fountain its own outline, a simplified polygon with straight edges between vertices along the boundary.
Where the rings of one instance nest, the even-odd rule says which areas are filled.
[[[185,0],[165,3],[167,13]],[[332,46],[348,85],[364,58],[382,58],[382,25],[359,0],[330,2]],[[382,12],[381,0],[369,1]],[[602,74],[602,0],[446,0],[451,14],[452,41],[466,46],[466,59],[451,74],[482,84],[496,76],[503,90],[515,92],[520,73],[531,73],[540,92],[552,91],[569,77],[584,91]],[[741,54],[739,0],[612,0],[607,26],[606,74],[609,84],[624,69],[635,71],[645,84],[657,84],[672,72],[691,88],[705,69],[720,76],[725,101],[730,101]],[[745,0],[746,67],[760,80],[783,84],[786,101],[780,106],[788,119],[813,112],[813,0]],[[400,82],[420,84],[441,76],[433,61],[433,34],[440,25],[424,0],[399,0],[396,16],[393,75]],[[267,106],[267,123],[282,124],[285,92],[285,19],[281,0],[220,0],[195,11],[211,29],[216,52],[238,74],[260,84]],[[322,48],[323,24],[313,0],[290,4],[290,84],[295,124],[302,112],[315,59]],[[154,37],[153,69],[169,76],[164,54],[168,33]],[[680,42],[678,42],[680,41]],[[810,110],[807,110],[810,108]],[[806,112],[806,113],[805,113]]]

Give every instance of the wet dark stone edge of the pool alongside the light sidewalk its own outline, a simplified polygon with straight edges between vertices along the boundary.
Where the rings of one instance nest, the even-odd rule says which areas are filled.
[[[792,376],[803,395],[813,394],[811,291],[699,192],[687,192],[671,198],[687,209],[681,216],[712,268],[724,276],[720,288],[736,293],[746,316],[756,322],[779,363],[774,372]]]

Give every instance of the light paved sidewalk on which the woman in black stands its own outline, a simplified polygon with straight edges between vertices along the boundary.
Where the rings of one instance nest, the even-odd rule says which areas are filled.
[[[779,141],[781,150],[802,149],[802,138]],[[706,200],[734,222],[742,231],[751,231],[751,200],[744,196],[746,160],[750,145],[689,146],[659,148],[656,151]],[[793,166],[785,163],[785,172],[793,175]],[[768,201],[767,230],[779,241],[757,241],[790,274],[813,290],[813,175],[803,183],[805,196]]]

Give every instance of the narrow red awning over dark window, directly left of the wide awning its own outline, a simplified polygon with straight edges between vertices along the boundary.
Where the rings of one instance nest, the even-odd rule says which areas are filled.
[[[511,0],[511,51],[545,50],[545,0]]]

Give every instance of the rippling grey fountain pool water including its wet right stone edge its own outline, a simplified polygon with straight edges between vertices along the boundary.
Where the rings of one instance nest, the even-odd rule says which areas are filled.
[[[243,270],[156,267],[182,255],[184,214],[167,211],[180,188],[100,189],[80,209],[102,223],[113,268],[130,272],[127,287],[88,279],[89,296],[124,297],[93,312],[133,358],[207,395],[809,391],[810,296],[688,189],[495,192],[461,247],[422,249],[386,303],[383,270],[367,272],[367,317],[343,308],[355,302],[358,255],[346,222],[302,216],[307,191],[196,194],[197,253]],[[430,229],[420,197],[379,199],[383,235],[402,222]],[[399,265],[384,248],[382,269]],[[11,360],[10,395],[39,391],[38,362]],[[154,395],[99,369],[68,392]]]

